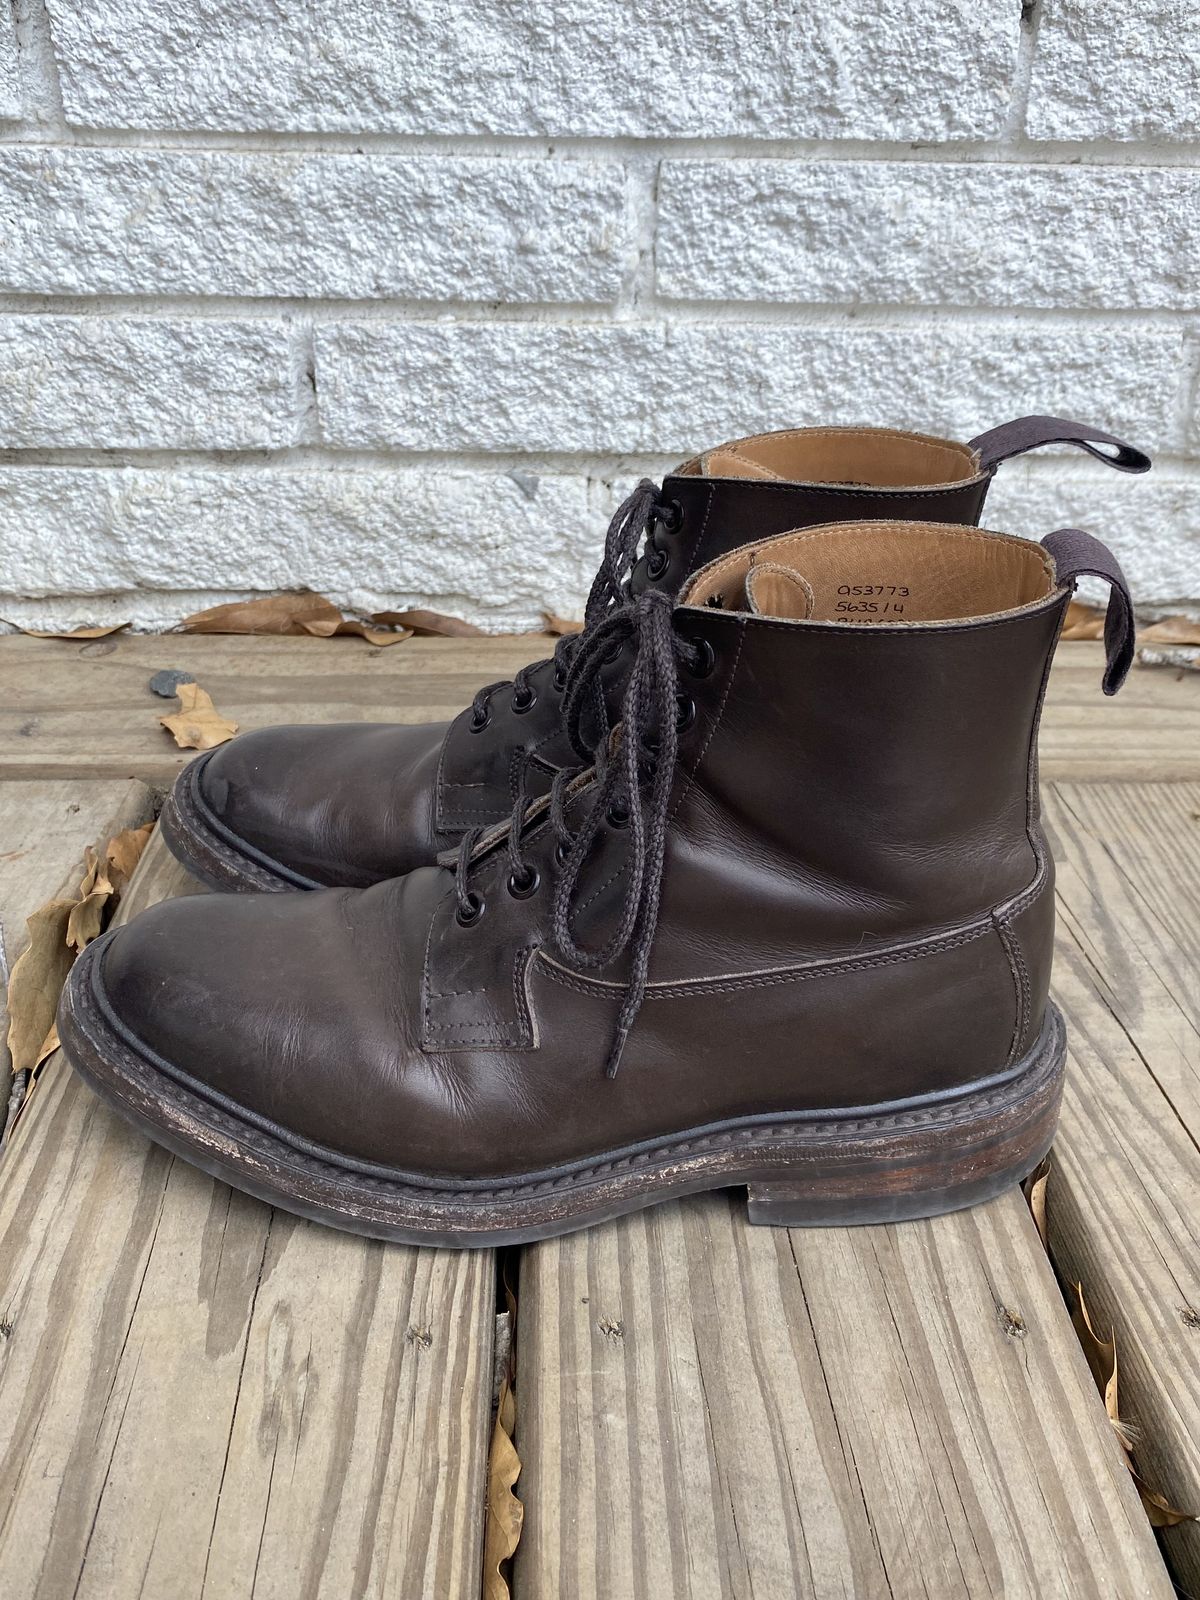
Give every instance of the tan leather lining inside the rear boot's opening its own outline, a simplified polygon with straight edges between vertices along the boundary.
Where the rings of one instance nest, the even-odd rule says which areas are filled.
[[[891,427],[797,427],[717,445],[678,470],[781,483],[949,488],[979,477],[979,456],[970,445]]]

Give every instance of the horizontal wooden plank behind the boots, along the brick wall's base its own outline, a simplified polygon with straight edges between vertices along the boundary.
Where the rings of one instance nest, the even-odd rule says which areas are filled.
[[[243,728],[277,722],[453,717],[482,683],[544,656],[550,640],[0,638],[0,778],[136,776],[168,784],[189,760],[158,726],[163,667],[194,672]],[[1139,669],[1117,701],[1099,693],[1101,646],[1064,645],[1042,723],[1051,778],[1200,778],[1200,675]]]

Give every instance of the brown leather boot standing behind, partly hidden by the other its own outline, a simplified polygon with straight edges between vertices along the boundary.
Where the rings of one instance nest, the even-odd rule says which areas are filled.
[[[970,445],[890,429],[797,429],[722,445],[685,462],[661,490],[621,507],[587,602],[587,627],[626,598],[675,595],[706,562],[747,538],[840,518],[978,522],[997,466],[1067,442],[1125,472],[1149,458],[1061,418],[1021,418]],[[1096,446],[1101,448],[1096,448]],[[646,534],[645,552],[638,544]],[[434,861],[514,803],[517,758],[530,794],[574,760],[562,734],[562,688],[578,640],[550,661],[493,683],[448,726],[285,726],[242,734],[194,762],[163,811],[163,837],[219,890],[366,886]],[[629,651],[603,672],[611,710]]]

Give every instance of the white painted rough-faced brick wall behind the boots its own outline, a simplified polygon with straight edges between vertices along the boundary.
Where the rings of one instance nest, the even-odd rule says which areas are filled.
[[[1061,411],[989,522],[1200,610],[1194,0],[0,8],[0,618],[578,613],[621,490]]]

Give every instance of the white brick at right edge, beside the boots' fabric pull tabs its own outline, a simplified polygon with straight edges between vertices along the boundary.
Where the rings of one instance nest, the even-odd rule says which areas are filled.
[[[1086,467],[1046,470],[1013,462],[997,475],[984,523],[1040,539],[1051,528],[1086,528],[1104,539],[1142,605],[1200,598],[1200,478],[1155,467],[1149,477]],[[1098,584],[1090,598],[1101,598]]]

